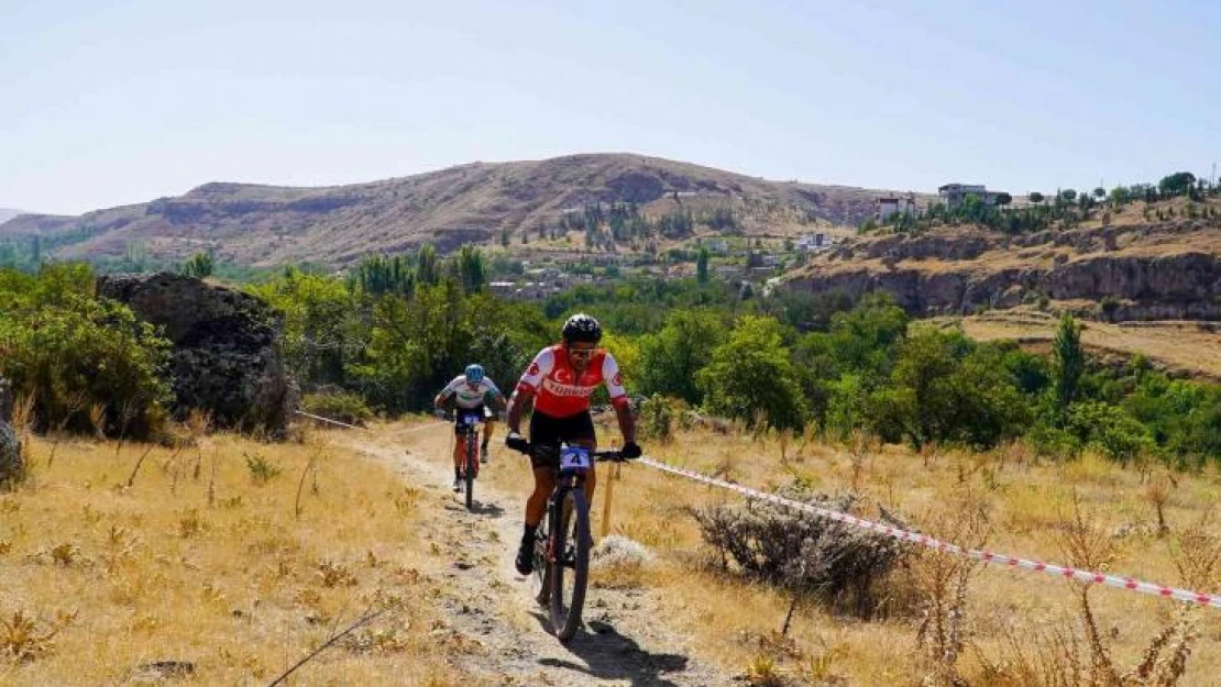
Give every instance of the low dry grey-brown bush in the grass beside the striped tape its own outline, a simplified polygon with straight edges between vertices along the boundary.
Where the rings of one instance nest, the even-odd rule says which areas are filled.
[[[850,513],[856,497],[833,499],[803,488],[781,489],[786,498]],[[692,513],[706,543],[728,567],[810,594],[839,609],[868,616],[878,605],[873,589],[906,552],[896,539],[769,504],[713,506]],[[883,514],[889,522],[904,527]]]

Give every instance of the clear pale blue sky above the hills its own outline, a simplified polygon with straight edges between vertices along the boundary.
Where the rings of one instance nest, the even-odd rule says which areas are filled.
[[[0,206],[585,151],[1013,193],[1221,157],[1221,2],[1000,5],[0,0]]]

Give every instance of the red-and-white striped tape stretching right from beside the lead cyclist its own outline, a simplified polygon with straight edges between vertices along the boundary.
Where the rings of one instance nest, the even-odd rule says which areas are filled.
[[[741,484],[733,484],[723,480],[717,480],[716,477],[701,475],[700,472],[695,472],[692,470],[672,467],[669,465],[665,465],[664,462],[658,462],[648,458],[641,458],[636,460],[636,462],[647,465],[654,470],[661,470],[662,472],[678,475],[679,477],[685,477],[687,480],[703,482],[705,484],[709,484],[722,489],[728,489],[730,492],[736,492],[750,499],[763,500],[775,505],[790,508],[792,510],[808,513],[811,515],[817,515],[819,517],[825,517],[828,520],[834,520],[836,522],[851,525],[852,527],[871,530],[879,534],[885,534],[886,537],[890,537],[893,539],[899,539],[900,542],[912,542],[916,544],[921,544],[923,547],[928,547],[934,550],[950,553],[957,556],[971,558],[974,560],[980,560],[985,564],[995,563],[998,565],[1005,565],[1017,570],[1027,570],[1031,572],[1044,572],[1048,575],[1055,575],[1056,577],[1077,580],[1078,582],[1105,584],[1107,587],[1128,589],[1131,592],[1140,592],[1142,594],[1150,594],[1154,597],[1162,597],[1167,599],[1175,599],[1178,602],[1199,604],[1203,606],[1221,608],[1221,595],[1219,594],[1204,594],[1200,592],[1192,592],[1189,589],[1179,589],[1178,587],[1167,587],[1165,584],[1158,584],[1154,582],[1143,582],[1140,580],[1133,580],[1132,577],[1104,575],[1101,572],[1093,572],[1089,570],[1074,570],[1072,567],[1062,565],[1054,565],[1050,563],[1042,563],[1024,558],[998,554],[984,549],[965,549],[957,544],[943,542],[940,539],[929,537],[928,534],[921,534],[918,532],[912,532],[910,530],[901,530],[899,527],[893,527],[884,522],[874,522],[872,520],[856,517],[855,515],[849,515],[846,513],[840,513],[838,510],[821,508],[808,503],[795,502],[791,499],[786,499],[784,497],[779,497],[777,494],[768,494],[764,492],[759,492],[757,489],[752,489],[750,487],[744,487]]]

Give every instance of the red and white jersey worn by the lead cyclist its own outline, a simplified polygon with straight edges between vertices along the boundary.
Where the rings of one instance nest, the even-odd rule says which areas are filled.
[[[628,403],[619,364],[606,349],[597,349],[580,377],[569,364],[563,344],[538,351],[518,382],[518,392],[535,397],[535,411],[552,417],[568,417],[590,409],[590,397],[598,384],[606,384],[610,403]]]

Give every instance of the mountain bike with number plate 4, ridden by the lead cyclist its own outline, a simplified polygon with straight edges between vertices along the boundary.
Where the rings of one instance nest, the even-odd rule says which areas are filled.
[[[551,606],[551,627],[567,642],[581,625],[585,586],[590,576],[590,508],[585,502],[585,476],[596,461],[625,459],[618,450],[591,451],[570,445],[531,445],[538,458],[559,454],[559,477],[547,498],[547,516],[535,533],[535,599]]]

